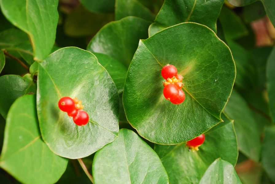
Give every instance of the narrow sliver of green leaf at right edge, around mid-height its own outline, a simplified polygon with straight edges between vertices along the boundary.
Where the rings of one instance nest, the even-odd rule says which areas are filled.
[[[270,53],[266,64],[266,79],[269,98],[269,106],[273,122],[275,122],[275,47]]]

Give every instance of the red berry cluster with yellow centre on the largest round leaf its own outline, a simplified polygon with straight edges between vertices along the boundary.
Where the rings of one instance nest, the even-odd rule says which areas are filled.
[[[163,95],[173,104],[180,104],[185,100],[185,94],[181,89],[183,77],[178,74],[175,66],[167,64],[161,70],[162,77],[166,80],[162,84],[164,86]]]

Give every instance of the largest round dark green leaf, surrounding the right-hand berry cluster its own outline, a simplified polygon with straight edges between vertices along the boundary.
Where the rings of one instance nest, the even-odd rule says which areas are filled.
[[[161,69],[176,66],[184,77],[185,101],[163,96]],[[141,40],[123,92],[127,120],[158,144],[178,144],[221,122],[230,96],[235,65],[229,48],[204,25],[182,23]]]

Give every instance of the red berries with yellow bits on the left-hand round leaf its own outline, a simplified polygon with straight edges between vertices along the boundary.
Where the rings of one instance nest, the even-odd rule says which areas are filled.
[[[86,111],[82,110],[84,106],[81,103],[77,98],[63,97],[59,100],[58,107],[68,116],[73,117],[76,125],[83,126],[88,123],[89,116]]]

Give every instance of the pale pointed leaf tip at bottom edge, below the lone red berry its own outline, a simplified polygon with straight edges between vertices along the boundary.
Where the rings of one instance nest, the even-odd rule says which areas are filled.
[[[204,173],[200,184],[242,184],[234,167],[222,159],[215,160]]]

